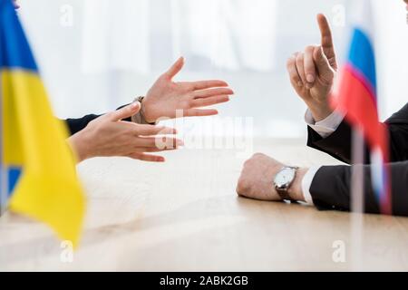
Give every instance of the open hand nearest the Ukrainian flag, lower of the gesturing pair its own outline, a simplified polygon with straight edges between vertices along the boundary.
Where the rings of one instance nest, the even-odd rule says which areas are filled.
[[[69,142],[79,161],[93,157],[122,156],[135,160],[163,162],[163,157],[147,153],[176,150],[182,145],[181,140],[158,136],[175,134],[174,129],[121,121],[140,110],[139,102],[132,103],[121,110],[112,111],[95,119],[83,131],[73,135]]]

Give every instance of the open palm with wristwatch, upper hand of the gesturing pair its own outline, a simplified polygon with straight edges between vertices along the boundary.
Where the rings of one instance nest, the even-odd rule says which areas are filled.
[[[184,58],[181,57],[153,84],[141,104],[146,121],[174,119],[178,110],[183,111],[183,117],[217,115],[217,110],[200,108],[228,102],[234,93],[223,81],[173,82],[183,66]]]

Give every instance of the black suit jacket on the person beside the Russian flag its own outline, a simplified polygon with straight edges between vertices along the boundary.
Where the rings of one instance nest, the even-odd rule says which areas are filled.
[[[408,103],[385,123],[390,134],[393,214],[408,216]],[[352,130],[346,122],[325,139],[308,127],[307,145],[350,163],[351,138]],[[365,156],[368,164],[367,148]],[[351,172],[349,166],[325,166],[317,171],[310,188],[317,208],[350,209]],[[379,213],[369,165],[364,165],[364,194],[365,211]]]

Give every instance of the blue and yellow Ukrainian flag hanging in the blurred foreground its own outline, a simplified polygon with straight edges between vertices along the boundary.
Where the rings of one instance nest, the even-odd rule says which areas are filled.
[[[33,53],[11,0],[0,0],[3,189],[9,208],[43,221],[76,246],[84,216],[67,130],[53,117]]]

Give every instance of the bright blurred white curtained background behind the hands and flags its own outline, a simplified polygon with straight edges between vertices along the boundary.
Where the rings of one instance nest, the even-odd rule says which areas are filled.
[[[236,92],[222,116],[253,117],[256,135],[306,135],[305,105],[287,58],[333,28],[340,61],[360,0],[20,0],[55,113],[112,111],[144,95],[180,55],[178,80],[223,79]],[[408,25],[401,0],[372,0],[381,114],[407,102]]]

